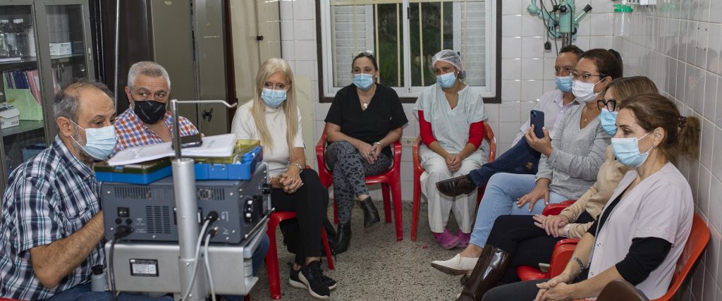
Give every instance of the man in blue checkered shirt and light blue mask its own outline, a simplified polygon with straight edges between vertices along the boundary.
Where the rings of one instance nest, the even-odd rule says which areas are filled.
[[[105,263],[91,167],[116,144],[112,94],[80,80],[58,93],[53,110],[58,136],[12,172],[2,199],[0,297],[109,300],[90,292],[91,267]]]

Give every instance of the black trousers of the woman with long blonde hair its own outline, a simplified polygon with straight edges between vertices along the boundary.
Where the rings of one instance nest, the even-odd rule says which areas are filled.
[[[300,229],[300,245],[295,263],[305,264],[307,257],[321,257],[321,227],[329,205],[329,191],[321,185],[316,170],[305,169],[300,175],[303,186],[295,193],[281,188],[271,190],[271,204],[276,211],[295,211]]]

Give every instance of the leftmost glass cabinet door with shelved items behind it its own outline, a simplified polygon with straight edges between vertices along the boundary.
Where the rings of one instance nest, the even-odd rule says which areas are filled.
[[[46,147],[35,24],[32,4],[0,6],[0,186]]]

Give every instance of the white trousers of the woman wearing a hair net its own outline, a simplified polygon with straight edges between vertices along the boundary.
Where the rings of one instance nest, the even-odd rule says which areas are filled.
[[[486,152],[477,149],[461,162],[461,168],[451,173],[446,167],[446,160],[439,154],[428,149],[425,145],[419,146],[419,158],[425,172],[421,175],[421,192],[429,204],[429,227],[431,232],[441,233],[448,223],[449,213],[453,210],[461,232],[471,233],[474,226],[474,211],[477,209],[477,191],[453,198],[439,193],[436,182],[459,175],[466,175],[471,170],[478,169],[486,162]]]

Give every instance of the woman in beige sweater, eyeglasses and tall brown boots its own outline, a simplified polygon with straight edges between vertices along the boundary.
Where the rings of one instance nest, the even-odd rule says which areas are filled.
[[[604,92],[604,98],[597,103],[601,108],[601,127],[610,136],[617,132],[614,121],[617,119],[619,105],[626,99],[648,93],[657,94],[654,82],[647,77],[627,77],[614,79]],[[494,227],[487,240],[489,253],[503,252],[509,257],[508,266],[499,266],[496,273],[482,274],[489,266],[492,256],[482,256],[471,274],[473,282],[464,287],[466,297],[479,300],[487,289],[497,282],[518,282],[516,274],[518,266],[536,266],[537,263],[549,262],[554,245],[565,237],[581,238],[591,227],[602,207],[609,201],[619,180],[632,169],[623,165],[614,157],[612,146],[606,147],[606,160],[599,167],[596,183],[589,188],[571,206],[560,214],[545,217],[541,214],[502,215],[494,222]],[[486,253],[486,249],[484,253]],[[464,282],[464,281],[462,281]],[[474,284],[474,286],[471,286]]]

